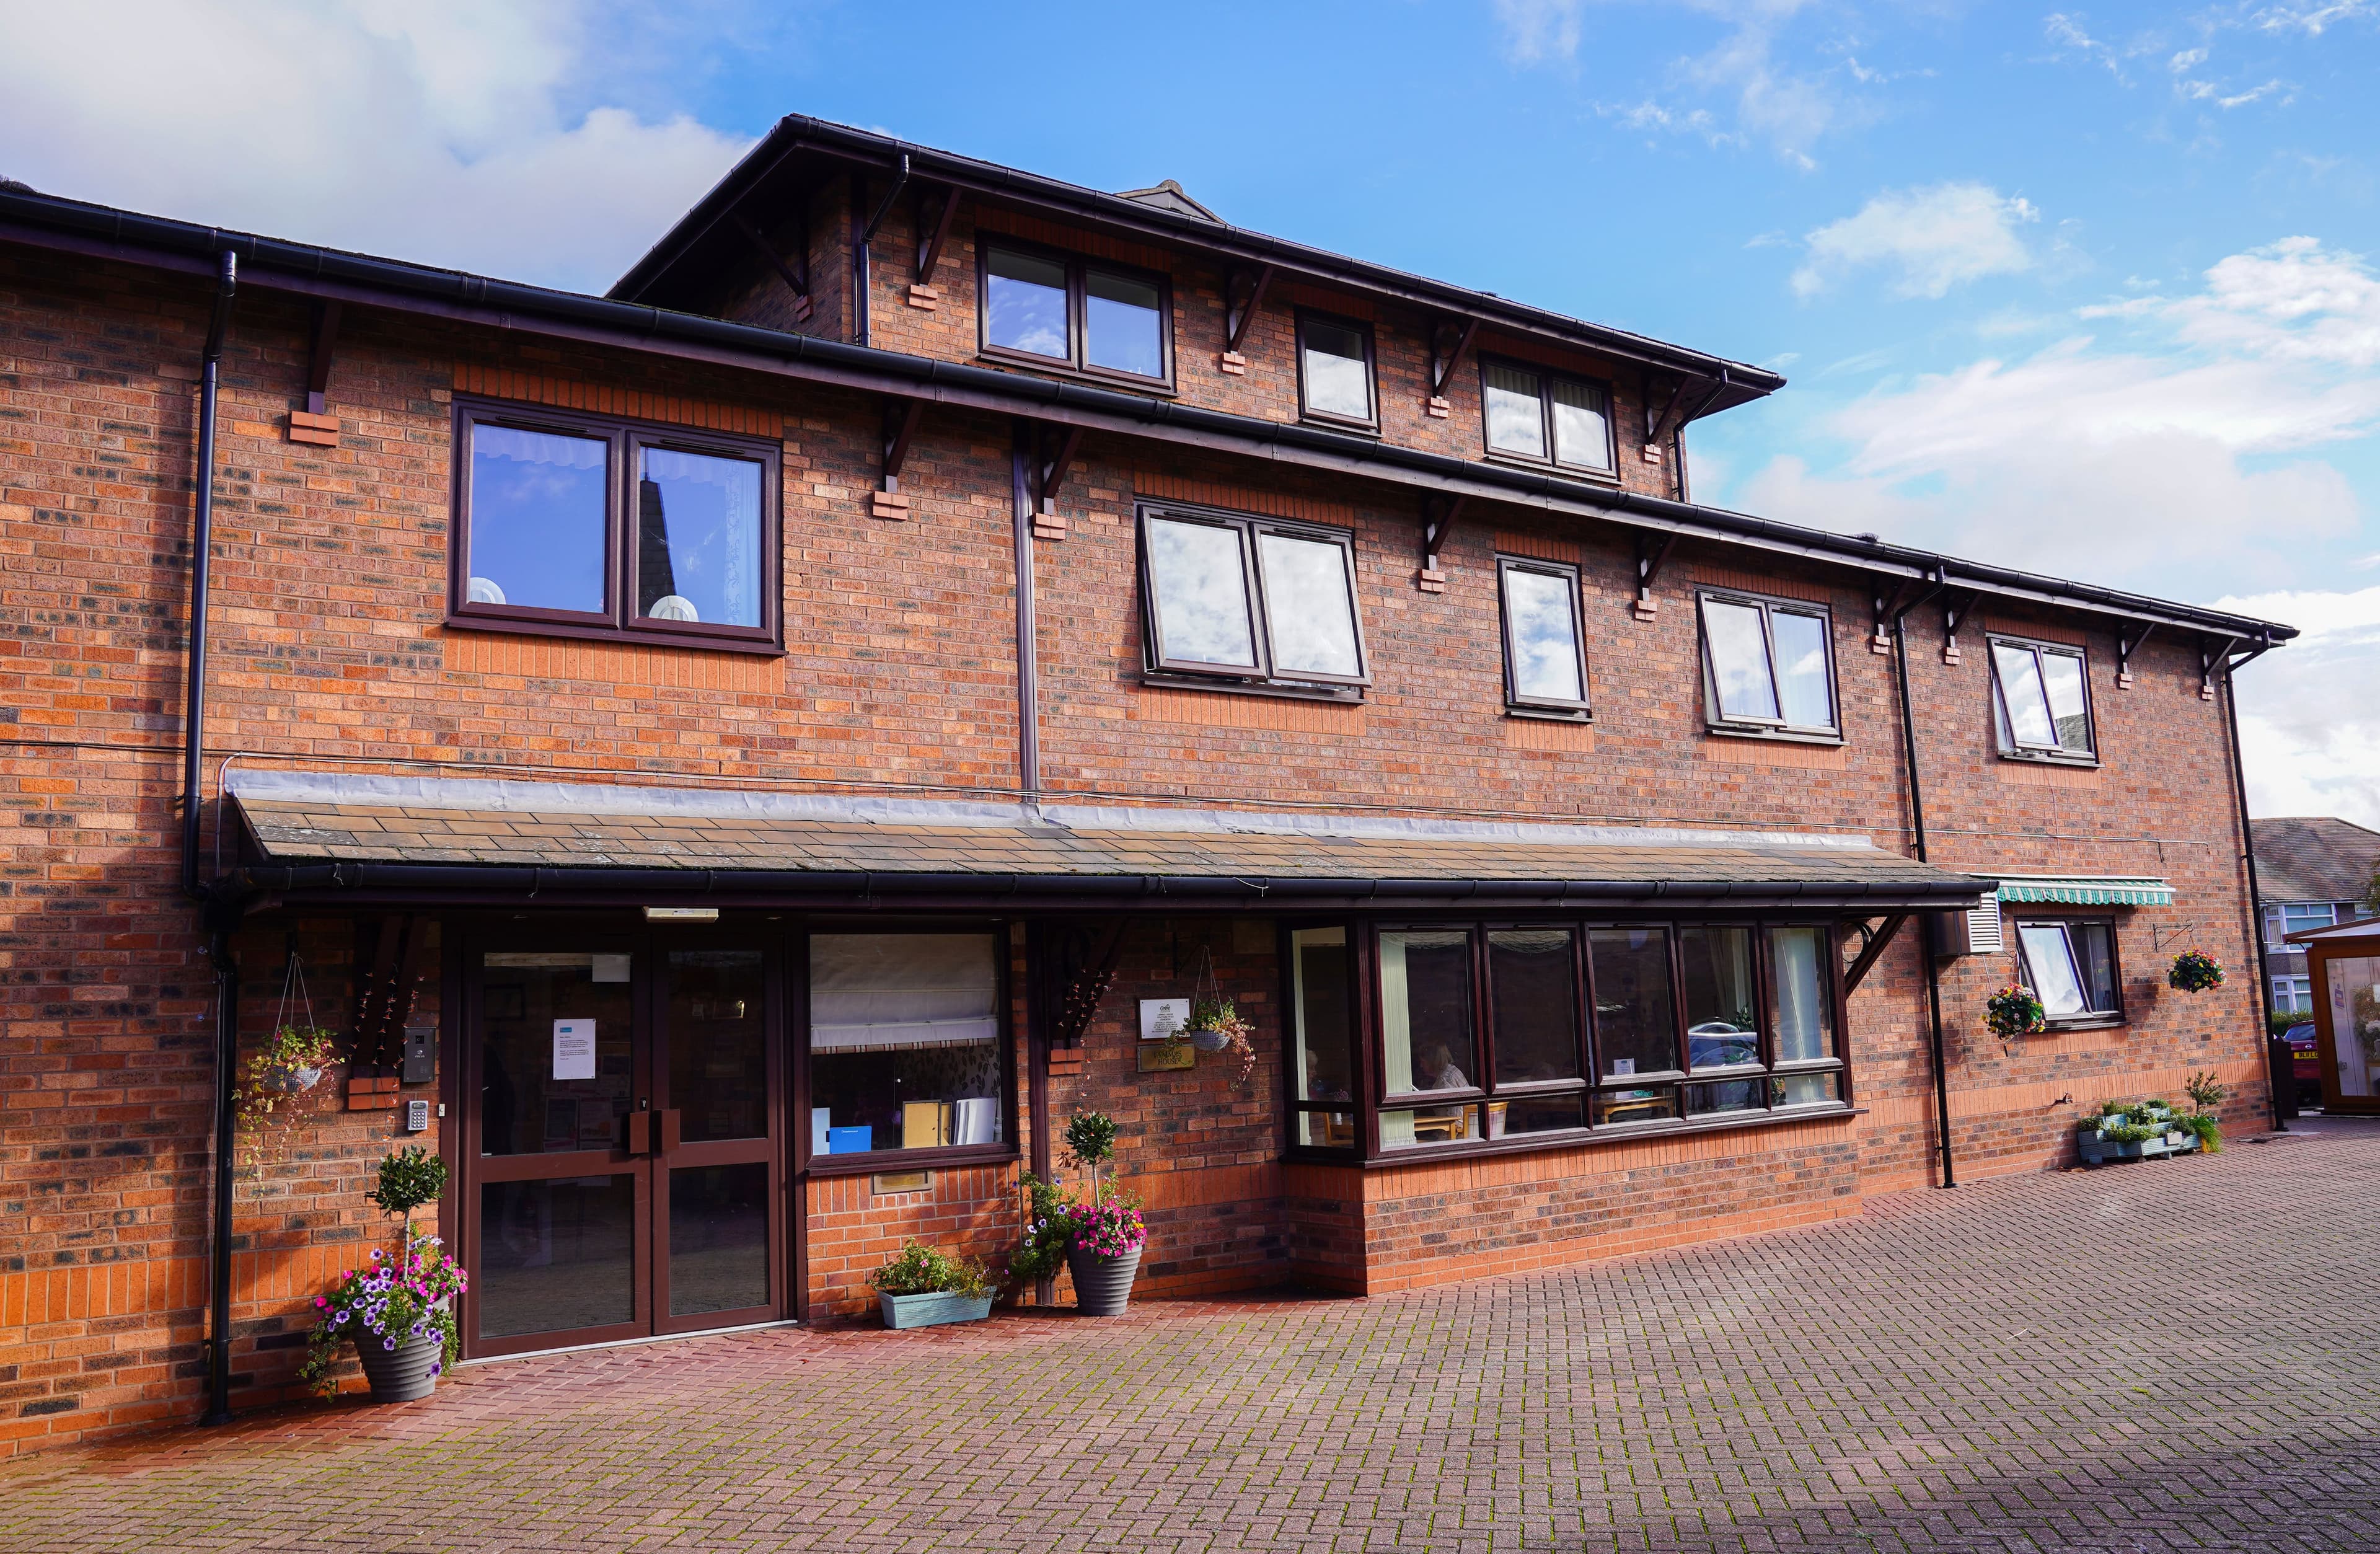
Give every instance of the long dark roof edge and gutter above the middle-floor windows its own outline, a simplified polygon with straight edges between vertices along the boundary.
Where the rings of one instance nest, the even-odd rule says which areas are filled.
[[[1114,195],[1102,195],[1114,198]],[[1673,533],[1745,545],[1752,550],[1814,557],[1873,574],[1878,583],[1914,583],[2033,600],[2156,621],[2240,643],[2285,643],[2294,626],[2254,616],[2178,604],[2147,595],[2099,588],[2068,578],[1961,562],[1928,550],[1887,545],[1868,535],[1840,535],[1799,524],[1780,524],[1723,507],[1676,502],[1630,490],[1611,490],[1535,469],[1507,469],[1485,459],[1397,447],[1376,438],[1292,426],[1257,416],[1152,400],[1085,383],[992,371],[964,362],[938,362],[819,336],[797,336],[726,319],[676,314],[662,307],[588,297],[519,281],[495,281],[455,269],[407,264],[336,247],[195,226],[164,217],[60,200],[31,190],[0,190],[0,243],[31,243],[71,255],[145,264],[195,281],[212,281],[221,252],[240,264],[240,288],[333,297],[364,307],[388,307],[514,338],[555,338],[678,359],[740,366],[804,383],[892,393],[933,405],[1021,414],[1088,431],[1114,431],[1157,443],[1214,447],[1257,459],[1276,459],[1338,476],[1359,476],[1418,488],[1433,495],[1476,495],[1514,502],[1554,516],[1621,524],[1640,533]]]

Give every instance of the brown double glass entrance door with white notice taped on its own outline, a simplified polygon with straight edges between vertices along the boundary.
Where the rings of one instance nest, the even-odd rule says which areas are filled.
[[[776,954],[464,952],[469,1354],[790,1314]]]

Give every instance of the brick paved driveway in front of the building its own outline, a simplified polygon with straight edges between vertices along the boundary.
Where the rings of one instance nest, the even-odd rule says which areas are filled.
[[[2380,1549],[2380,1126],[1371,1302],[747,1333],[0,1468],[0,1549]]]

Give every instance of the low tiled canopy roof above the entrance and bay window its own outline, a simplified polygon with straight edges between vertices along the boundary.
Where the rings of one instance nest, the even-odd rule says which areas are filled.
[[[1864,838],[233,771],[250,895],[1973,907]],[[643,895],[638,895],[643,892]],[[819,902],[826,904],[826,902]]]

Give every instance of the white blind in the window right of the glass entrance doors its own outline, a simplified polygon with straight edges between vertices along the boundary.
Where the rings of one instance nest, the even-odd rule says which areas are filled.
[[[814,933],[809,1049],[916,1052],[1000,1038],[990,933]]]

